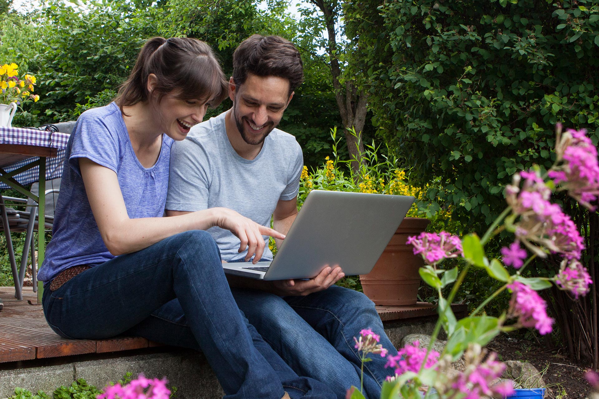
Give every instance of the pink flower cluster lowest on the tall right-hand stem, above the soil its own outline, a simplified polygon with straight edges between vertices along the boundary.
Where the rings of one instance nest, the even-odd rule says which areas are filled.
[[[528,285],[515,281],[508,285],[512,290],[509,314],[518,317],[522,327],[534,327],[541,335],[552,331],[553,319],[547,316],[547,303]]]

